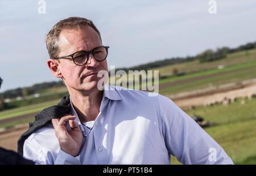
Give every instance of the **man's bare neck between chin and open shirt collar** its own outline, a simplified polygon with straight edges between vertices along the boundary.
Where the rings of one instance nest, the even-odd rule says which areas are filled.
[[[98,89],[84,93],[80,91],[69,92],[73,107],[82,123],[95,120],[100,112],[103,91]]]

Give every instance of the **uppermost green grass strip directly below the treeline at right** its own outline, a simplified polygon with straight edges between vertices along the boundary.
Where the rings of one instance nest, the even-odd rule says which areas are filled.
[[[187,61],[180,64],[171,64],[167,66],[161,66],[158,68],[152,68],[150,70],[159,70],[161,76],[169,76],[168,78],[160,79],[159,83],[166,83],[171,81],[178,81],[179,79],[201,76],[203,74],[213,74],[218,72],[224,72],[227,70],[243,68],[250,66],[248,64],[255,65],[256,61],[256,49],[249,51],[241,51],[229,54],[226,58],[216,60],[212,62],[200,63],[199,60]],[[217,69],[218,65],[224,65],[224,69]],[[172,76],[172,70],[177,69],[179,73],[186,73],[185,76]],[[171,76],[171,77],[170,77]],[[127,80],[132,78],[127,75]],[[115,81],[119,78],[115,77]]]

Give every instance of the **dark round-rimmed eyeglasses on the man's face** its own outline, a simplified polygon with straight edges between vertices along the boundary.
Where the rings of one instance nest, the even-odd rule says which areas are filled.
[[[91,51],[77,51],[73,53],[72,55],[68,56],[61,56],[61,57],[53,57],[54,59],[60,59],[60,58],[72,58],[73,62],[76,65],[85,65],[88,61],[89,55],[92,54],[96,61],[104,61],[106,57],[108,56],[108,48],[105,46],[96,47],[92,49]]]

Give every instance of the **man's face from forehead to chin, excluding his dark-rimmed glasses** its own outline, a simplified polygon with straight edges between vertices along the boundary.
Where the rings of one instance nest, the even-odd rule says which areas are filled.
[[[102,46],[100,36],[90,26],[85,26],[81,29],[64,30],[61,31],[59,37],[59,57],[71,55],[82,50],[91,51],[100,46]],[[95,90],[97,89],[98,81],[101,79],[97,77],[97,73],[100,70],[108,71],[108,65],[106,60],[98,62],[90,55],[87,63],[82,66],[76,65],[72,59],[60,59],[59,69],[65,79],[68,90]],[[91,73],[96,74],[88,76]]]

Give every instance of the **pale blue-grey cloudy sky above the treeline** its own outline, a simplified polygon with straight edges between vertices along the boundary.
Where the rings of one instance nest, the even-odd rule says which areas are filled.
[[[0,1],[0,93],[59,80],[46,64],[45,37],[54,24],[69,16],[94,22],[103,44],[110,47],[109,68],[256,41],[254,0],[216,0],[216,14],[209,14],[208,0],[45,0],[46,14],[39,14],[38,2]]]

